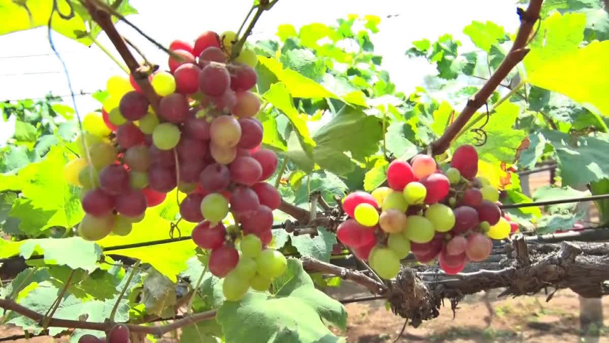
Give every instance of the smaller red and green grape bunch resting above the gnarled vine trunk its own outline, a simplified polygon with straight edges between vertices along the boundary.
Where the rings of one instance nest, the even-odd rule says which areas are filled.
[[[438,258],[449,274],[468,261],[483,261],[491,239],[504,239],[518,225],[502,214],[498,190],[476,177],[477,168],[471,145],[457,148],[445,172],[424,154],[410,163],[395,160],[387,168],[389,187],[343,198],[350,218],[339,225],[337,237],[387,279],[400,272],[400,259],[411,251],[420,262]]]

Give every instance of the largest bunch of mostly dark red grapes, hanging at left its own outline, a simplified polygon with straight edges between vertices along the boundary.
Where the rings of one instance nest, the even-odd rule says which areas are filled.
[[[194,45],[172,42],[169,71],[150,76],[161,97],[158,113],[133,77],[108,79],[101,114],[83,120],[81,148],[86,143],[88,155],[66,165],[66,178],[83,187],[79,233],[88,240],[128,234],[147,206],[175,187],[186,193],[181,218],[197,223],[192,240],[211,251],[209,271],[225,278],[229,300],[250,286],[268,289],[287,265],[281,253],[265,248],[281,196],[265,182],[278,159],[261,148],[263,129],[255,118],[261,103],[250,92],[257,56],[245,48],[230,61],[235,40],[234,32],[206,31]],[[229,212],[238,225],[225,226]]]

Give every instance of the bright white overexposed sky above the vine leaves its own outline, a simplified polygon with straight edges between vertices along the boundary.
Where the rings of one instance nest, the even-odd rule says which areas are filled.
[[[175,38],[193,40],[200,32],[213,30],[236,31],[252,0],[163,2],[131,0],[138,15],[128,19],[164,45]],[[398,90],[410,92],[420,85],[423,76],[434,73],[426,62],[408,60],[404,52],[410,42],[421,38],[435,40],[451,33],[465,48],[471,47],[462,29],[471,21],[494,21],[507,32],[518,27],[515,0],[280,0],[262,15],[250,40],[272,38],[279,24],[290,23],[296,29],[303,24],[333,24],[349,13],[381,16],[379,34],[373,35],[375,52],[381,54],[383,67],[390,71]],[[171,5],[169,5],[171,4]],[[230,4],[230,5],[227,5]],[[387,18],[391,15],[391,18]],[[397,16],[395,16],[397,15]],[[144,51],[147,58],[166,67],[167,56],[123,23],[119,31]],[[55,46],[68,65],[74,92],[93,92],[105,88],[108,76],[122,73],[96,46],[86,47],[59,34],[54,34]],[[105,34],[100,42],[115,52]],[[55,95],[69,95],[60,62],[54,56],[46,37],[46,27],[0,37],[0,100],[37,98],[49,90]],[[116,53],[118,56],[118,53]],[[65,101],[70,101],[68,97]],[[77,96],[81,114],[99,107],[90,96]],[[0,123],[0,136],[4,129]]]

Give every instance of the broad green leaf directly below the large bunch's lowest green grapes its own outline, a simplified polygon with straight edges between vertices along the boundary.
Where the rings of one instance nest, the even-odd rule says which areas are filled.
[[[218,309],[216,319],[227,343],[345,342],[326,328],[345,329],[345,308],[315,289],[297,259],[288,259],[286,274],[280,278],[289,281],[276,295],[248,292],[243,300],[225,301]]]

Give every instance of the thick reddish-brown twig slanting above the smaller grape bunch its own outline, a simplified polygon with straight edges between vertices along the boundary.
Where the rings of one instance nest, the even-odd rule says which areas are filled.
[[[543,0],[531,0],[526,11],[518,9],[520,16],[520,28],[514,40],[512,49],[505,55],[505,59],[501,65],[495,70],[488,82],[485,83],[480,90],[467,101],[465,108],[459,116],[452,122],[442,137],[432,143],[432,152],[434,155],[442,154],[450,146],[452,140],[461,131],[463,126],[467,124],[471,116],[476,113],[476,110],[482,107],[487,99],[495,92],[495,89],[501,84],[501,81],[507,77],[510,71],[524,59],[529,49],[526,48],[530,34],[533,30],[535,22],[539,19],[539,12]]]

